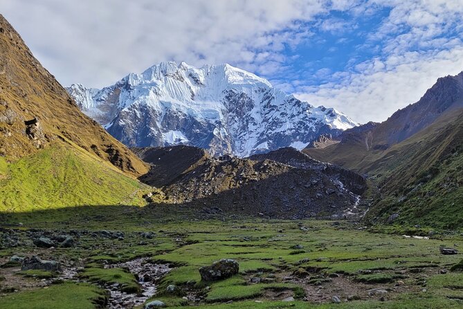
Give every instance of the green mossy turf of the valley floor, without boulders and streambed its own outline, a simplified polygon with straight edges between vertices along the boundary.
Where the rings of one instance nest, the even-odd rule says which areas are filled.
[[[358,229],[358,225],[351,222],[186,220],[192,218],[192,214],[183,212],[185,210],[172,208],[169,213],[152,207],[109,207],[39,211],[33,216],[9,214],[4,222],[22,222],[18,230],[23,232],[30,227],[83,231],[76,247],[40,249],[38,254],[48,259],[84,261],[80,276],[95,284],[137,287],[132,274],[120,268],[103,268],[107,263],[146,256],[149,261],[172,265],[172,270],[157,283],[158,292],[152,297],[164,301],[170,308],[192,304],[217,309],[463,306],[463,273],[450,271],[462,258],[439,253],[441,245],[463,247],[461,231],[434,231],[431,239],[426,240],[397,235],[406,230],[404,227],[397,227],[394,233],[392,227],[387,231],[368,231]],[[300,226],[308,230],[303,231]],[[119,240],[92,236],[102,229],[123,232],[125,237]],[[422,234],[429,229],[414,231]],[[141,232],[152,232],[154,237],[143,238]],[[294,249],[296,245],[302,249]],[[4,263],[13,254],[28,256],[33,249],[28,246],[3,249],[0,259]],[[224,281],[201,281],[199,267],[220,258],[235,258],[240,265],[239,274]],[[449,271],[441,273],[444,269]],[[12,271],[14,268],[0,270],[0,276],[5,274],[6,278],[1,285],[8,286],[8,272]],[[251,282],[253,277],[262,282]],[[171,284],[180,291],[167,293],[167,285]],[[374,294],[371,290],[375,288],[385,289],[387,293]],[[42,297],[39,294],[46,290],[28,290],[19,285],[19,292],[0,297],[0,303],[3,299],[11,304],[14,300],[20,303],[23,297]],[[86,291],[91,299],[93,292]],[[334,295],[340,297],[342,303],[332,303]],[[185,296],[197,301],[185,300]],[[282,302],[288,296],[296,300]],[[358,300],[347,301],[349,296]],[[67,297],[71,296],[62,294],[56,302]]]

